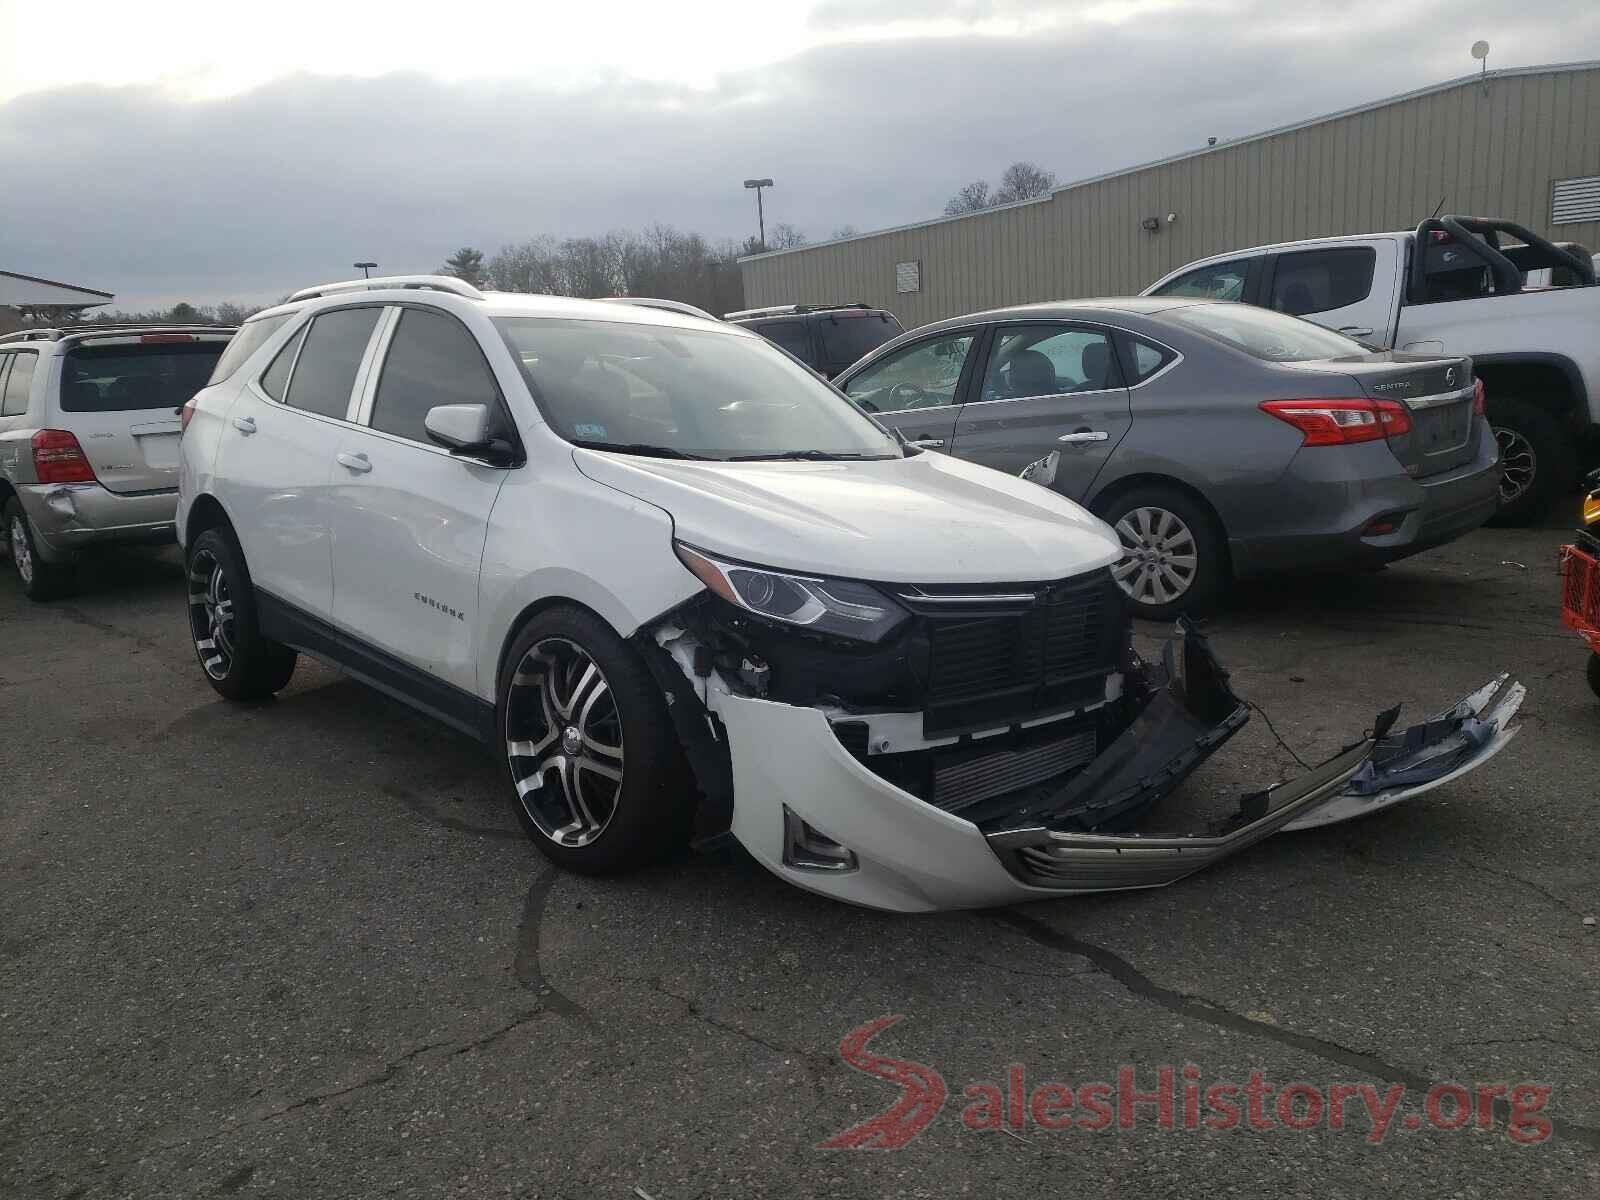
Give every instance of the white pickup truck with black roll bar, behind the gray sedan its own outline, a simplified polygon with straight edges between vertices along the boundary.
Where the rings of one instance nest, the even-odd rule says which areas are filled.
[[[1243,301],[1382,349],[1472,355],[1501,446],[1502,525],[1538,520],[1570,491],[1600,434],[1595,262],[1510,221],[1442,216],[1213,254],[1144,294]]]

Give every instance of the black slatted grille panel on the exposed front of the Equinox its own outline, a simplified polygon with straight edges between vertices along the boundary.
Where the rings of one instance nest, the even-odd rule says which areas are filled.
[[[910,598],[928,622],[928,736],[1099,699],[1120,654],[1122,605],[1110,571],[1027,590],[1037,592],[1032,603],[981,611]]]

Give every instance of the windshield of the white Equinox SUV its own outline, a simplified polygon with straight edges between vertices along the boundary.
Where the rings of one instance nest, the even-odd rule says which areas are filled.
[[[901,458],[899,443],[760,338],[496,317],[544,419],[568,442],[706,459]]]

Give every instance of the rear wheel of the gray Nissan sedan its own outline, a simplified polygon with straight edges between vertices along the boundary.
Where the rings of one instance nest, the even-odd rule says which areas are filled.
[[[1205,611],[1227,586],[1227,541],[1211,512],[1160,483],[1125,491],[1102,510],[1123,558],[1112,576],[1134,616],[1171,621]]]

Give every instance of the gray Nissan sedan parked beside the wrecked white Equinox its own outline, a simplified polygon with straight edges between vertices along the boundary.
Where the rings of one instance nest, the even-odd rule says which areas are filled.
[[[901,334],[835,382],[910,445],[1102,517],[1147,618],[1202,608],[1238,576],[1403,558],[1496,507],[1470,358],[1376,352],[1245,304],[981,312]]]

